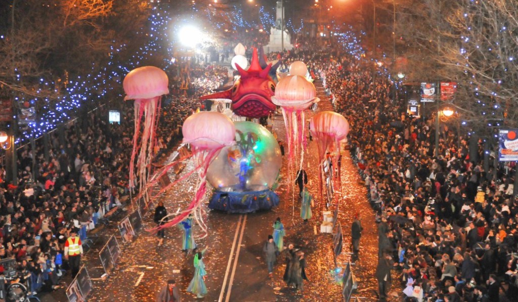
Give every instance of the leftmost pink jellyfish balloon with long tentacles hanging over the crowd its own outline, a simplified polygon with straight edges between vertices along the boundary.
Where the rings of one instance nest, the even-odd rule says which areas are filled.
[[[130,161],[130,188],[135,186],[134,164],[137,158],[136,176],[140,179],[140,191],[148,180],[148,169],[153,158],[155,130],[160,113],[162,95],[168,94],[169,80],[166,73],[154,66],[135,68],[126,75],[122,83],[127,99],[135,99],[135,134]],[[141,126],[142,117],[144,118]],[[141,130],[142,128],[142,130]]]

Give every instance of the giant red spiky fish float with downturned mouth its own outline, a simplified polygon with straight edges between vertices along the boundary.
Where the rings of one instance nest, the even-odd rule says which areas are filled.
[[[275,94],[275,83],[269,76],[271,64],[261,68],[257,49],[254,48],[250,68],[244,70],[239,64],[235,66],[241,77],[230,89],[205,95],[200,99],[231,99],[231,109],[241,117],[257,119],[274,112],[277,107],[271,102],[271,97]]]

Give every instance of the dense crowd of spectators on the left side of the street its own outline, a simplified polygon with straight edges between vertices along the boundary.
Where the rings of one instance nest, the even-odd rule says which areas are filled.
[[[203,106],[197,97],[227,80],[221,67],[192,66],[185,73],[190,91],[179,93],[181,81],[172,79],[171,94],[163,98],[156,155],[180,141],[181,124]],[[59,287],[71,232],[90,231],[110,209],[123,208],[134,128],[128,106],[121,109],[120,123],[108,122],[104,106],[51,133],[47,148],[38,140],[34,179],[30,145],[18,150],[18,183],[3,182],[0,188],[0,259],[15,258],[17,277],[31,291]]]

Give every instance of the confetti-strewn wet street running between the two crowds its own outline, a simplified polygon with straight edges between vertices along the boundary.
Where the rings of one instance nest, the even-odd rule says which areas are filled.
[[[321,83],[316,82],[315,85],[318,96],[322,99],[319,111],[332,110]],[[309,123],[312,114],[307,115],[306,123]],[[285,141],[282,115],[276,114],[270,123],[278,139]],[[166,239],[162,247],[157,247],[155,236],[140,231],[134,242],[122,248],[121,262],[113,269],[110,277],[105,281],[94,281],[90,300],[154,301],[166,280],[173,278],[176,279],[182,300],[186,301],[340,301],[341,284],[335,276],[332,235],[318,232],[322,216],[316,156],[318,152],[314,140],[309,141],[308,149],[304,166],[309,177],[308,188],[315,196],[315,206],[312,209],[313,217],[307,223],[300,219],[300,204],[295,198],[298,189],[295,184],[289,188],[287,177],[284,177],[287,175],[285,158],[281,170],[283,178],[279,189],[276,190],[280,196],[280,205],[277,208],[249,214],[207,211],[204,219],[209,236],[196,240],[198,247],[208,248],[204,254],[208,294],[204,298],[196,299],[194,295],[186,292],[194,274],[193,253],[181,251],[182,231],[173,227],[166,230]],[[182,174],[192,168],[192,163],[188,162]],[[374,277],[377,261],[377,226],[365,197],[365,187],[359,181],[348,151],[343,153],[341,173],[341,193],[337,194],[344,248],[338,258],[338,267],[342,268],[349,260],[347,252],[350,251],[350,224],[354,213],[359,211],[365,231],[361,252],[355,260],[353,270],[358,278],[358,292],[361,293],[358,295],[366,297],[367,299],[363,299],[365,301],[375,301],[376,295],[373,290],[377,288]],[[196,180],[197,176],[193,175],[178,184],[177,188],[164,194],[162,200],[168,212],[176,212],[179,207],[188,204],[190,196],[194,193],[192,188],[195,187],[193,185]],[[297,249],[303,250],[306,254],[306,273],[309,281],[305,282],[304,291],[290,289],[282,280],[285,269],[283,253],[278,257],[274,277],[268,278],[263,245],[272,233],[272,225],[277,217],[281,218],[286,230],[284,245],[294,243]],[[152,214],[148,214],[144,219],[144,228],[153,226]],[[198,231],[199,227],[194,226],[195,236]],[[88,257],[94,256],[90,254]],[[99,277],[95,274],[92,270],[91,277]]]

